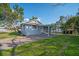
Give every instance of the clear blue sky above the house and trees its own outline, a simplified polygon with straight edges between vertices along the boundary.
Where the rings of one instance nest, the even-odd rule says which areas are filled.
[[[59,6],[53,5],[53,3],[19,3],[18,5],[24,8],[24,18],[26,20],[36,16],[43,24],[55,23],[59,20],[60,16],[75,15],[79,8],[77,3]]]

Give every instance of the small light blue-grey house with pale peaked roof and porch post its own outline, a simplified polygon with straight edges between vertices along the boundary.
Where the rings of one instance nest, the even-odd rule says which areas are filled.
[[[43,25],[40,21],[34,19],[21,24],[21,33],[23,35],[40,35],[42,33],[50,35],[50,26]]]

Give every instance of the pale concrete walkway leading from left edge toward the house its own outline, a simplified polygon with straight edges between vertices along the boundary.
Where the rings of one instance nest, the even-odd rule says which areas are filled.
[[[41,34],[41,35],[31,35],[31,36],[23,36],[16,39],[5,39],[0,40],[0,49],[9,49],[12,48],[13,45],[21,45],[23,43],[29,43],[33,41],[37,41],[40,39],[45,39],[49,37],[53,37],[54,35],[48,36],[47,34]]]

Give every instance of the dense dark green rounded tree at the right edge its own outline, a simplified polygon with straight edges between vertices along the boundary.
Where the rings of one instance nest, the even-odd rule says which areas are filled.
[[[65,29],[73,29],[75,32],[79,33],[79,16],[73,16],[64,24]]]

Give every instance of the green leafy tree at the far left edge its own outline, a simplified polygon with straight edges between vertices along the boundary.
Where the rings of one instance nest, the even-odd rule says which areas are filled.
[[[0,4],[0,21],[4,23],[4,25],[8,24],[8,20],[9,20],[8,18],[10,16],[10,13],[11,13],[11,8],[9,4],[7,3]]]

